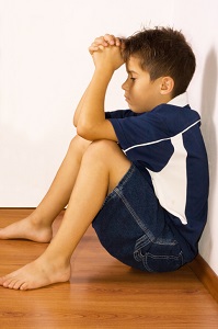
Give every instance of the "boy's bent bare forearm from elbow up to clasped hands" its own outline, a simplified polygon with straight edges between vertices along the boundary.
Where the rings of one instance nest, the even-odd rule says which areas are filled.
[[[112,76],[124,60],[121,54],[121,44],[116,38],[112,41],[112,36],[107,37],[111,38],[106,45],[100,37],[90,47],[95,70],[73,118],[78,135],[89,140],[111,139],[117,141],[111,122],[105,120],[104,100]]]

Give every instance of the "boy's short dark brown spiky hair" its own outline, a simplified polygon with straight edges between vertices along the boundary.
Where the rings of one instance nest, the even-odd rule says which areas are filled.
[[[186,91],[195,72],[195,55],[181,31],[171,27],[144,29],[124,38],[124,59],[140,59],[151,80],[171,77],[174,80],[173,97]]]

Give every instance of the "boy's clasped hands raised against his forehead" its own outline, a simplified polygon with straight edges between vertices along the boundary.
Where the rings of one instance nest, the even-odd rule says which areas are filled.
[[[123,43],[111,34],[96,37],[89,47],[95,68],[116,70],[124,64],[122,57]]]

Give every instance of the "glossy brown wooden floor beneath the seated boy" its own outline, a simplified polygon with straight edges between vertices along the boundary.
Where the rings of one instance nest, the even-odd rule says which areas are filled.
[[[0,209],[0,227],[28,213]],[[1,240],[0,275],[32,261],[46,246]],[[70,283],[26,292],[0,287],[0,328],[218,328],[218,304],[187,265],[164,274],[131,270],[107,254],[90,228],[71,266]]]

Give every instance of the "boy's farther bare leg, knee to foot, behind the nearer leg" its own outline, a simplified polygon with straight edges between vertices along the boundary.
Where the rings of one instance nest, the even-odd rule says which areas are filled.
[[[81,159],[91,141],[76,136],[50,185],[37,208],[27,217],[0,229],[0,239],[25,238],[38,242],[51,239],[51,223],[68,204]]]

